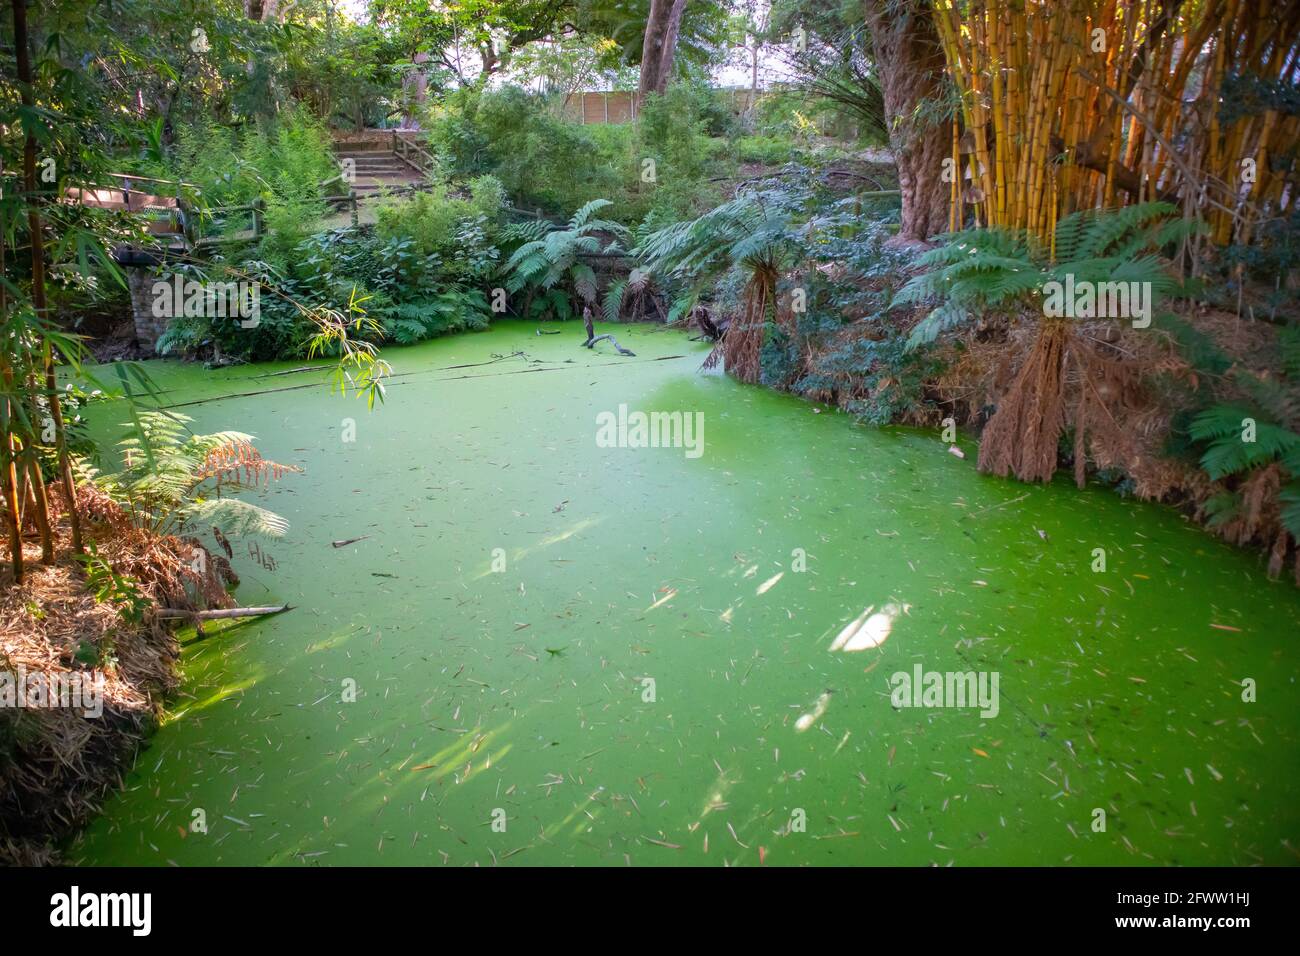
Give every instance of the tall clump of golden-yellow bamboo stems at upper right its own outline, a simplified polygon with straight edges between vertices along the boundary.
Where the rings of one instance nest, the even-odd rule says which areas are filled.
[[[1164,199],[1217,245],[1295,208],[1300,0],[933,0],[961,100],[950,226],[1050,242]]]

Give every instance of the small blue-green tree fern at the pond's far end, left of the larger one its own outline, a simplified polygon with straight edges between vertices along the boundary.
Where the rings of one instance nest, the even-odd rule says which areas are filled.
[[[568,228],[556,229],[549,222],[530,222],[516,226],[515,235],[524,243],[511,254],[502,267],[506,287],[511,293],[520,289],[572,291],[584,303],[594,303],[597,297],[595,272],[581,260],[584,254],[614,252],[619,242],[628,238],[628,230],[611,220],[593,219],[608,199],[593,199],[569,220]],[[602,248],[601,234],[614,238]],[[507,237],[508,238],[508,237]],[[555,298],[552,304],[559,306]],[[560,310],[556,310],[560,311]]]

